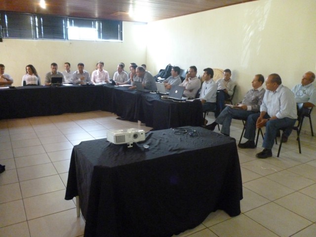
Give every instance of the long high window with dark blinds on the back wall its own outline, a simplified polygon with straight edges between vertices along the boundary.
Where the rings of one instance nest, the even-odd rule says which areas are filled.
[[[122,22],[0,12],[1,38],[122,41]]]

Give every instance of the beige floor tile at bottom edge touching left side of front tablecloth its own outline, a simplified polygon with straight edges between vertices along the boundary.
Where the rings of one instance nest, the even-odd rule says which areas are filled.
[[[32,237],[78,237],[85,223],[76,208],[28,221]]]

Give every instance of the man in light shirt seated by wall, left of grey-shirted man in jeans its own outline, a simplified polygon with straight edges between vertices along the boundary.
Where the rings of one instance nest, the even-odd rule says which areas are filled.
[[[225,100],[229,99],[234,93],[235,82],[231,79],[232,72],[229,69],[224,70],[224,78],[218,79],[217,84],[217,109],[215,118],[224,110]]]

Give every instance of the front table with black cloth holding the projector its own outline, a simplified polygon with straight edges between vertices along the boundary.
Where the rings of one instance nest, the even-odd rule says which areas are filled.
[[[197,135],[165,129],[132,148],[106,139],[74,146],[65,199],[79,195],[85,237],[167,237],[217,209],[240,214],[236,140],[183,128]]]

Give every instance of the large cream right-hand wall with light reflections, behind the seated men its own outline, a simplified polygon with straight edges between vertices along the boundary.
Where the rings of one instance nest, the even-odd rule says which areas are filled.
[[[206,67],[229,68],[235,102],[255,74],[278,73],[292,88],[305,72],[316,73],[315,9],[316,0],[258,0],[152,22],[147,65],[195,65],[199,75]]]

